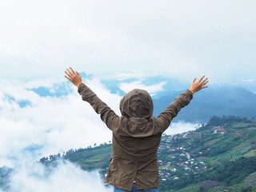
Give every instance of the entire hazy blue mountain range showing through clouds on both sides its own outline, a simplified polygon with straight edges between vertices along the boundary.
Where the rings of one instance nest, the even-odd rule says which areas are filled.
[[[93,80],[92,74],[81,73],[83,79]],[[110,90],[112,94],[120,96],[126,94],[123,90],[124,85],[132,88],[136,86],[158,87],[152,90],[152,98],[154,102],[154,116],[158,116],[165,110],[166,106],[170,105],[183,90],[190,86],[190,82],[168,78],[168,77],[149,77],[149,78],[126,78],[121,80],[101,80],[102,84]],[[70,82],[68,82],[70,83]],[[126,88],[127,89],[127,88]],[[66,83],[54,84],[54,87],[40,86],[30,89],[41,97],[61,97],[70,93],[70,86]],[[10,98],[11,100],[12,98]],[[32,105],[30,101],[22,101],[19,103],[21,107]],[[205,123],[210,120],[215,114],[234,115],[246,118],[256,117],[256,94],[250,90],[234,85],[210,85],[206,90],[202,90],[194,94],[193,100],[189,106],[186,106],[174,118],[174,122],[198,122]]]

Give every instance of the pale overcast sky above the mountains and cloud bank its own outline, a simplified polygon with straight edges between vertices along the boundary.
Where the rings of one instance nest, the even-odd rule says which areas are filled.
[[[253,0],[2,1],[2,78],[165,75],[255,81]]]

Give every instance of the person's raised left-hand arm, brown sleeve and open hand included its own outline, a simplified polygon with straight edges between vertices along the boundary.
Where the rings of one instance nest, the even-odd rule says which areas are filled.
[[[94,94],[94,91],[90,90],[88,86],[82,83],[82,78],[78,71],[74,71],[70,67],[70,70],[66,69],[65,73],[67,75],[65,75],[65,77],[78,87],[78,93],[82,95],[82,100],[90,103],[90,106],[94,108],[95,112],[101,115],[102,121],[106,123],[106,126],[110,128],[110,130],[118,126],[118,115],[115,114],[105,102],[102,102],[102,100]]]

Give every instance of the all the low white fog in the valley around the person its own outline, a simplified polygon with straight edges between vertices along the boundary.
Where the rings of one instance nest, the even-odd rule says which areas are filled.
[[[98,78],[83,80],[120,115],[121,97],[118,94],[111,94]],[[133,85],[154,94],[162,90],[164,83],[145,86],[132,82],[120,88],[129,91]],[[0,86],[0,166],[15,168],[10,191],[111,190],[104,186],[98,171],[87,172],[70,162],[58,162],[58,166],[49,170],[38,162],[43,156],[111,141],[111,131],[92,107],[82,101],[75,86],[52,78],[36,82],[1,80]],[[62,86],[67,94],[40,96],[30,90],[39,86],[47,87],[51,93]],[[26,105],[21,106],[24,101]],[[194,130],[195,126],[186,122],[173,123],[165,133],[183,133]]]

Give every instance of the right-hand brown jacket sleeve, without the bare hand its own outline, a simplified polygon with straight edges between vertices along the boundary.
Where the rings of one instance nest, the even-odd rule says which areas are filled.
[[[174,117],[178,114],[178,112],[184,107],[190,104],[191,99],[193,98],[193,94],[190,90],[185,90],[182,94],[175,98],[174,102],[170,104],[170,106],[166,107],[166,110],[162,111],[159,114],[157,120],[159,126],[161,126],[162,132],[164,132],[169,126],[170,122]]]

